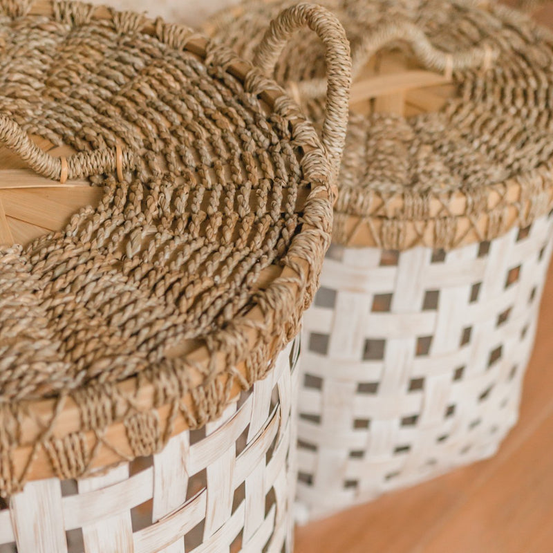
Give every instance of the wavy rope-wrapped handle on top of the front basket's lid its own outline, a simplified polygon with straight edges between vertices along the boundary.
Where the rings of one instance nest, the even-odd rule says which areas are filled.
[[[67,158],[55,158],[41,150],[19,124],[3,114],[0,114],[0,142],[15,151],[39,175],[59,180],[62,184],[68,179],[113,171],[122,180],[123,170],[133,166],[131,152],[123,151],[119,145],[114,149],[102,148],[75,153]]]

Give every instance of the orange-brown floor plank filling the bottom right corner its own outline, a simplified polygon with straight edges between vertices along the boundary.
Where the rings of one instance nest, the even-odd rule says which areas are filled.
[[[540,427],[476,489],[425,553],[551,553],[553,407]]]

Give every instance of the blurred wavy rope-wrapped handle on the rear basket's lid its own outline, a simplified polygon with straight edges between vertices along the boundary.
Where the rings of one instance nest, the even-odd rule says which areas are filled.
[[[451,73],[456,70],[480,66],[489,68],[498,55],[487,44],[456,53],[444,52],[444,50],[435,48],[424,31],[415,24],[410,21],[397,21],[366,35],[353,55],[353,77],[359,75],[359,72],[375,53],[393,41],[408,43],[424,67],[444,73],[448,78],[451,78]],[[324,93],[326,82],[325,79],[311,79],[297,83],[297,87],[303,97],[320,97]]]

